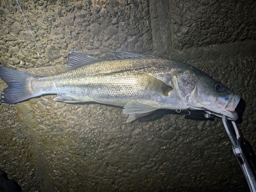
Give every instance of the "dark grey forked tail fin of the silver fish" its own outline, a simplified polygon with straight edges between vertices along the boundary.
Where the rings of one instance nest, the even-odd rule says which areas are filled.
[[[29,77],[39,76],[26,74],[13,68],[0,66],[0,78],[9,86],[2,92],[0,101],[2,103],[13,104],[38,96],[32,94],[28,90],[26,84]]]

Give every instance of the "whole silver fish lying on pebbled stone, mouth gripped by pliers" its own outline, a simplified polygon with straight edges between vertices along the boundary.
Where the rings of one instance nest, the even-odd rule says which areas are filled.
[[[71,51],[65,73],[42,77],[0,66],[8,87],[0,101],[15,104],[45,94],[66,103],[95,102],[123,108],[127,122],[158,109],[204,110],[236,121],[239,94],[202,70],[145,53],[114,52],[102,60]]]

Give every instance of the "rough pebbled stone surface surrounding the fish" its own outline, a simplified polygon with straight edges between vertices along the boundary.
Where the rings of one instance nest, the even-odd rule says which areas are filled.
[[[255,1],[0,3],[0,64],[38,75],[68,52],[145,52],[192,64],[239,93],[256,152]],[[0,90],[6,84],[0,80]],[[24,191],[247,191],[221,119],[158,112],[132,124],[120,108],[53,95],[0,105],[0,169]]]

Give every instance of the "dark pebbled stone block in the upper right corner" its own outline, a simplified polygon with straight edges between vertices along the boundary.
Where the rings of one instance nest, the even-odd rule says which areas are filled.
[[[181,1],[170,3],[174,48],[255,39],[254,1]],[[243,12],[244,10],[244,12]],[[245,11],[246,10],[246,11]]]

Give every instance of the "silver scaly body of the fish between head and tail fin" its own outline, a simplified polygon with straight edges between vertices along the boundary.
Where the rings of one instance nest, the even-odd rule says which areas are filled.
[[[31,78],[30,91],[36,95],[60,94],[60,100],[73,98],[69,102],[93,101],[121,107],[138,102],[186,109],[189,106],[171,91],[172,76],[181,67],[161,58],[101,61],[56,76]]]

